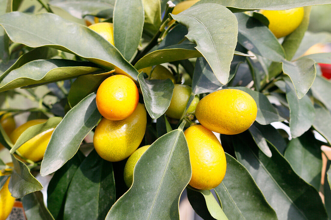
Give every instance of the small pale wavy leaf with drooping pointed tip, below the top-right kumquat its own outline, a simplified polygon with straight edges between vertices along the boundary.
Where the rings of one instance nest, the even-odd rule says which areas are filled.
[[[315,61],[301,58],[294,62],[283,61],[283,72],[287,74],[299,99],[304,97],[316,76]]]

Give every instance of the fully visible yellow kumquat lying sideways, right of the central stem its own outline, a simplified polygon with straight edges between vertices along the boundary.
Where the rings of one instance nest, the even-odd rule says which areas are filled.
[[[237,89],[212,92],[198,103],[195,116],[205,128],[221,134],[239,134],[256,119],[256,102]]]

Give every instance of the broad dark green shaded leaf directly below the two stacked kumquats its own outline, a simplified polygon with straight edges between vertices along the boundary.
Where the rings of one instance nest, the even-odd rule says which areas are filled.
[[[103,160],[93,150],[72,177],[64,219],[105,219],[114,202],[115,180],[112,163]]]

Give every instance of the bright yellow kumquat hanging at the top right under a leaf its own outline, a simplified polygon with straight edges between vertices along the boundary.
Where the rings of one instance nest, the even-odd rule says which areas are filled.
[[[304,8],[293,8],[282,11],[261,10],[260,13],[269,20],[269,29],[277,37],[285,37],[292,33],[304,18]]]

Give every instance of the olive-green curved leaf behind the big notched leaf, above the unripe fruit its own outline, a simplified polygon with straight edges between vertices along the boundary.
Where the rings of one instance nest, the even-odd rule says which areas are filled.
[[[194,48],[194,46],[194,44],[183,43],[178,45],[172,45],[161,50],[153,51],[138,60],[134,67],[136,69],[142,69],[161,63],[202,56],[200,52]]]

